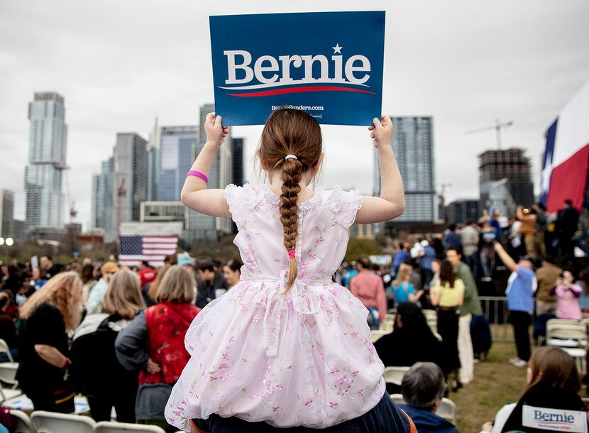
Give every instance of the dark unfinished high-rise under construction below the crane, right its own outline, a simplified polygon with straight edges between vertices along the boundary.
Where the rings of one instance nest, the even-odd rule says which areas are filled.
[[[518,204],[534,203],[532,165],[524,153],[524,149],[510,148],[486,150],[478,155],[481,209],[493,208],[512,215]]]

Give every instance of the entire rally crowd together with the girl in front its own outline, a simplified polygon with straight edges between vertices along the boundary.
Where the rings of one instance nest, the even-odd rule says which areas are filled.
[[[363,256],[338,270],[351,224],[403,212],[390,118],[369,128],[381,197],[311,190],[324,156],[321,130],[292,109],[270,115],[256,152],[270,185],[207,190],[228,130],[214,114],[204,130],[207,143],[182,202],[231,217],[243,263],[180,252],[159,269],[145,262],[128,268],[115,257],[62,267],[43,256],[38,265],[4,266],[0,338],[19,362],[16,378],[35,410],[73,412],[82,393],[94,420],[109,420],[114,408],[119,421],[168,432],[412,432],[418,424],[420,433],[453,432],[434,412],[444,383],[456,392],[473,381],[473,329],[484,322],[477,281],[490,282],[499,261],[511,271],[505,293],[517,357],[510,362],[528,366],[529,387],[521,405],[497,414],[493,431],[502,417],[517,426],[521,406],[545,401],[545,387],[566,388],[561,408],[579,408],[570,395],[578,390],[574,363],[552,349],[531,356],[529,341],[539,281],[544,318],[579,317],[583,289],[549,256],[573,254],[578,212],[575,219],[570,204],[552,222],[540,206],[519,207],[507,224],[485,214],[477,224],[451,224],[444,236],[403,243],[388,268]],[[381,327],[390,308],[394,329],[373,345],[370,329]],[[436,309],[438,332],[424,309]],[[478,357],[489,347],[490,339]],[[400,387],[405,411],[389,398],[395,390],[385,384],[385,366],[412,366]]]

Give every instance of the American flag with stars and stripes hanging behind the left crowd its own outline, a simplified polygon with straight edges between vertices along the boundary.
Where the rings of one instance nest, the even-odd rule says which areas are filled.
[[[119,263],[135,266],[146,260],[155,268],[176,253],[177,236],[119,236]]]

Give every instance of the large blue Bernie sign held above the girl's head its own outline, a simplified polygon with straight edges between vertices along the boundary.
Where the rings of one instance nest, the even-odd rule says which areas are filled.
[[[216,113],[264,124],[280,106],[320,124],[380,118],[385,12],[211,16]]]

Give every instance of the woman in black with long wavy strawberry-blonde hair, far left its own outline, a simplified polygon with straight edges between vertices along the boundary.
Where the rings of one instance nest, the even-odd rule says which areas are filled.
[[[67,330],[79,322],[82,280],[59,273],[20,309],[18,343],[21,361],[16,380],[35,410],[74,412],[74,395],[64,380],[70,366]]]

